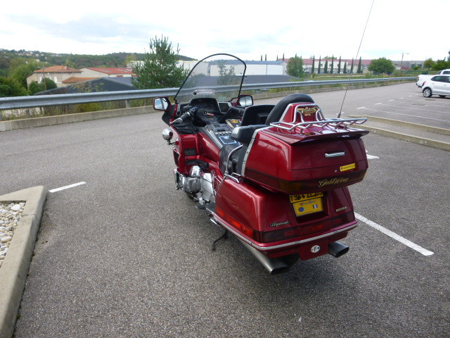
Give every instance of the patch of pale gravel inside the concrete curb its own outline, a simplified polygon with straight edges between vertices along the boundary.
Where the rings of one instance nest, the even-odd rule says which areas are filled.
[[[25,202],[4,202],[0,204],[0,267],[3,264],[15,228],[22,217]]]

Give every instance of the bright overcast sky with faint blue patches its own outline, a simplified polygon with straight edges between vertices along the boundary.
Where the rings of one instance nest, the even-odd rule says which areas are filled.
[[[143,53],[164,35],[180,54],[245,60],[354,58],[373,0],[6,1],[0,48],[72,54]],[[374,0],[359,56],[446,58],[450,0]]]

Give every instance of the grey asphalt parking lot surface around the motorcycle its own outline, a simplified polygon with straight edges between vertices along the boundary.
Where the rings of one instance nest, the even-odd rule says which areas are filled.
[[[343,92],[311,96],[331,117]],[[450,99],[413,83],[349,91],[343,111],[361,110],[450,129]],[[368,134],[351,193],[370,222],[349,253],[271,276],[233,237],[210,250],[221,230],[174,189],[165,127],[145,114],[0,133],[0,194],[80,183],[49,192],[15,337],[448,336],[448,151]]]

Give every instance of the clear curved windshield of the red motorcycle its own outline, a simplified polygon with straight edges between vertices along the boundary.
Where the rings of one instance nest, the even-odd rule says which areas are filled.
[[[175,95],[178,104],[191,99],[212,97],[218,102],[231,101],[240,94],[245,62],[230,54],[214,54],[198,61]]]

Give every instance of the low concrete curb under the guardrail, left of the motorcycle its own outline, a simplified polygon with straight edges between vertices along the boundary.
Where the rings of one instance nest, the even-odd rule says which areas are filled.
[[[25,129],[32,127],[43,127],[45,125],[60,125],[63,123],[74,123],[101,118],[117,118],[119,116],[153,113],[152,106],[136,108],[111,109],[109,111],[91,111],[89,113],[76,113],[67,115],[45,116],[43,118],[21,118],[18,120],[7,120],[0,122],[0,132],[8,130]]]

